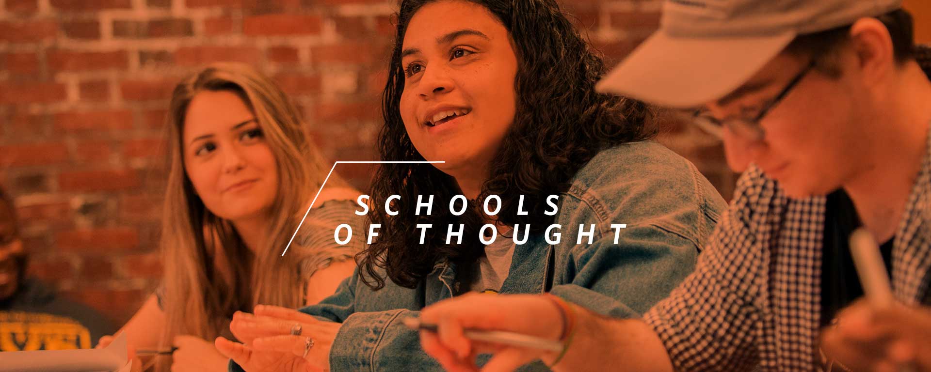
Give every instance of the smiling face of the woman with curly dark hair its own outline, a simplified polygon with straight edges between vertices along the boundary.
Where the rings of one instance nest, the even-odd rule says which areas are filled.
[[[417,151],[460,183],[484,180],[516,111],[505,26],[473,3],[427,4],[408,24],[401,66],[400,113]]]

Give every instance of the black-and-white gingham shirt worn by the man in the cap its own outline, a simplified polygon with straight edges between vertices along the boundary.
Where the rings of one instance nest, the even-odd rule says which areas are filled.
[[[893,248],[902,302],[931,303],[931,136]],[[695,272],[645,319],[682,371],[811,371],[820,368],[821,246],[826,198],[789,199],[757,168]]]

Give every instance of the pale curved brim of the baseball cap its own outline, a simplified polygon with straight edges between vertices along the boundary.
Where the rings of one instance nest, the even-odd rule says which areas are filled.
[[[743,85],[795,35],[673,37],[660,30],[601,79],[597,89],[662,106],[696,107]]]

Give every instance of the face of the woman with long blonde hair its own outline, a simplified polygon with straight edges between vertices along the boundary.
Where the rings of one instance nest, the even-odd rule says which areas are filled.
[[[213,214],[236,221],[268,212],[278,185],[275,155],[236,93],[197,93],[184,115],[182,137],[184,170]]]

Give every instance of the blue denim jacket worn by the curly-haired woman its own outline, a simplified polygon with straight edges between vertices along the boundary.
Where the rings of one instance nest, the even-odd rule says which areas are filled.
[[[724,207],[695,166],[661,144],[604,150],[560,195],[553,222],[562,226],[560,244],[539,235],[516,246],[500,293],[549,291],[594,312],[639,316],[693,271]],[[576,245],[580,224],[586,231],[596,225],[593,244]],[[616,245],[612,224],[627,224]],[[400,320],[459,293],[455,277],[452,263],[438,262],[416,288],[388,280],[373,291],[357,270],[330,298],[301,312],[343,323],[331,347],[332,371],[441,370]],[[548,369],[537,362],[522,370]]]

